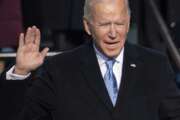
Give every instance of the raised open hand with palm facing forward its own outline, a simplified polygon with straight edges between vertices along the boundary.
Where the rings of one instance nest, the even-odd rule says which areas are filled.
[[[26,75],[43,64],[49,48],[39,51],[40,36],[40,30],[35,26],[29,27],[25,35],[24,33],[20,34],[14,69],[15,74]]]

